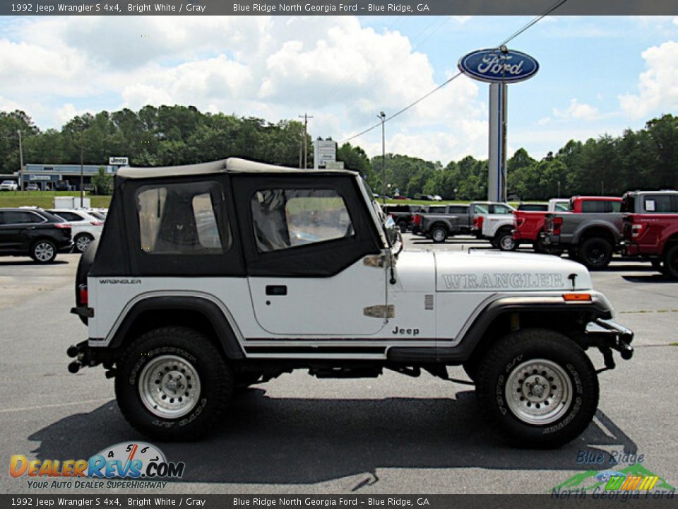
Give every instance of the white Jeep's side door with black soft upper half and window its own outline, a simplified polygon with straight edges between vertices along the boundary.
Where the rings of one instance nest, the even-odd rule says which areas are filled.
[[[256,320],[285,337],[376,334],[386,269],[352,175],[232,177]],[[366,263],[367,261],[367,263]]]

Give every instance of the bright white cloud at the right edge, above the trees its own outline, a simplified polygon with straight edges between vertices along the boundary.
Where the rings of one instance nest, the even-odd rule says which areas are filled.
[[[634,119],[678,107],[678,43],[650,47],[642,57],[647,71],[638,78],[638,94],[619,95],[622,110]]]

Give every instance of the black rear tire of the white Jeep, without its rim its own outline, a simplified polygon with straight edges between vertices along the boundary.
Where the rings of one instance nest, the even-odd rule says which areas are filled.
[[[199,378],[196,405],[177,419],[153,414],[140,395],[143,368],[162,356],[189,363]],[[120,411],[134,428],[157,440],[199,438],[225,411],[233,387],[233,372],[222,353],[207,337],[188,327],[162,327],[143,334],[117,363],[115,394]]]

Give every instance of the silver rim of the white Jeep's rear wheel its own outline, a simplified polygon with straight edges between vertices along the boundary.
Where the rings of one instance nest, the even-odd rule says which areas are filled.
[[[151,414],[179,419],[198,404],[200,378],[185,359],[166,355],[154,358],[139,375],[139,397]]]

